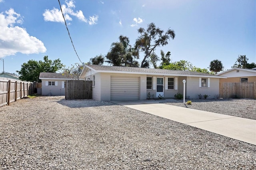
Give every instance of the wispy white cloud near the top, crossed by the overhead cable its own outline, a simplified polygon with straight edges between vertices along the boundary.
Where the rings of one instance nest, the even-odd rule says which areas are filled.
[[[87,20],[81,10],[74,12],[73,8],[75,8],[74,0],[65,0],[65,4],[61,6],[63,15],[66,21],[72,21],[72,16],[76,16],[82,22],[89,23],[90,25],[96,24],[98,21],[98,16],[90,16],[89,20]],[[53,10],[46,9],[43,13],[45,21],[52,22],[64,22],[61,10],[53,8]]]

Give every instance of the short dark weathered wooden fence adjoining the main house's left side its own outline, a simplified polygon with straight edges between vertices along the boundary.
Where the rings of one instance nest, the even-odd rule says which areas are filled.
[[[92,99],[92,81],[67,80],[65,99]]]

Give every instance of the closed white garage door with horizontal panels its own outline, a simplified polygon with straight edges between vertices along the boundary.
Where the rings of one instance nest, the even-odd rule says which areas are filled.
[[[138,100],[139,77],[111,76],[110,100]]]

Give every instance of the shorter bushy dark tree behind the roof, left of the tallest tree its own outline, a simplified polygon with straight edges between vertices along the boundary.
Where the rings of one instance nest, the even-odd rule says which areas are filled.
[[[136,59],[138,59],[139,53],[129,43],[129,38],[119,36],[119,42],[111,44],[110,51],[106,55],[106,62],[115,66],[138,67]]]

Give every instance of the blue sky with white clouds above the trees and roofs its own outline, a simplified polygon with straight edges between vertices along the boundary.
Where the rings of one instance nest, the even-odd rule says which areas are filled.
[[[82,62],[106,55],[120,35],[134,45],[138,28],[154,22],[176,37],[158,47],[172,61],[200,68],[219,59],[230,69],[238,55],[256,63],[255,0],[60,0],[71,38]],[[60,15],[58,0],[0,0],[0,57],[15,73],[28,60],[80,63]],[[143,53],[141,53],[141,56]],[[142,57],[141,57],[142,58]],[[0,72],[3,71],[0,61]]]

